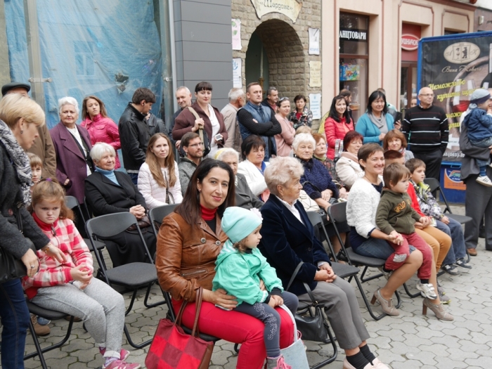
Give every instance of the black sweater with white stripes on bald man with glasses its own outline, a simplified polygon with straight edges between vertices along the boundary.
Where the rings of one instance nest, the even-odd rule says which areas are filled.
[[[449,126],[446,112],[439,106],[424,109],[417,105],[406,111],[401,132],[413,153],[431,153],[448,145]]]

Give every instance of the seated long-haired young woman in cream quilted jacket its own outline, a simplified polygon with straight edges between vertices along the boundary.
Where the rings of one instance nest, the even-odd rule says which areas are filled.
[[[150,137],[145,162],[138,171],[138,190],[149,209],[183,201],[178,164],[165,134]]]

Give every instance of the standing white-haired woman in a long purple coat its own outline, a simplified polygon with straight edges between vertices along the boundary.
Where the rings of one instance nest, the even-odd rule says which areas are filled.
[[[58,100],[60,122],[50,129],[56,153],[56,178],[72,195],[84,203],[84,179],[93,171],[91,137],[79,124],[79,104],[75,98],[65,96]]]

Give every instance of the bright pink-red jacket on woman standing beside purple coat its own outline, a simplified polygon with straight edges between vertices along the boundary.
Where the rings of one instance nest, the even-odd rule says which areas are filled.
[[[101,114],[98,114],[93,118],[93,121],[86,118],[80,125],[89,131],[92,145],[96,142],[104,142],[111,145],[115,151],[122,148],[122,144],[119,142],[118,126],[111,118],[103,117]],[[122,166],[119,164],[118,153],[116,153],[115,161],[115,169]]]

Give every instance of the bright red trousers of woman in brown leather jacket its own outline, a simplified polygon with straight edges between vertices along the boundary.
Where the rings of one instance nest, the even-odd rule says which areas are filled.
[[[174,311],[179,311],[183,301],[172,300]],[[289,314],[283,309],[276,308],[280,314],[280,349],[289,347],[294,339],[294,323]],[[195,303],[186,305],[183,312],[183,324],[193,328],[195,321]],[[241,344],[236,369],[261,369],[265,363],[266,348],[264,343],[265,325],[257,318],[253,318],[238,311],[226,311],[210,302],[202,302],[200,318],[198,318],[200,332],[225,339],[228,342]]]

